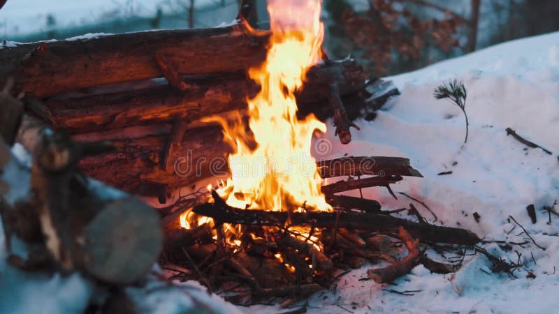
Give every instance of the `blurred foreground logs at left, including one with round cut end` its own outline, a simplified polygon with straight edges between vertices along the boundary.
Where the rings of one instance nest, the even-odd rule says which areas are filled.
[[[10,103],[1,104],[0,116],[10,112]],[[82,156],[106,151],[106,144],[72,142],[31,117],[17,117],[17,121],[22,122],[16,140],[31,152],[33,165],[30,171],[14,166],[17,161],[10,156],[11,167],[29,181],[18,181],[17,187],[2,192],[2,198],[8,196],[10,201],[0,202],[0,213],[7,241],[13,235],[20,237],[29,255],[11,254],[10,261],[22,269],[53,265],[78,269],[113,284],[133,283],[144,276],[161,251],[157,213],[76,171]],[[9,156],[7,147],[1,146],[2,155]],[[15,189],[30,193],[14,200],[9,195]]]

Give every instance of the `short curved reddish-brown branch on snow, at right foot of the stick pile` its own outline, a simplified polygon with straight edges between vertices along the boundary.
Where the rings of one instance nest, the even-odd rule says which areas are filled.
[[[403,227],[398,230],[398,236],[407,248],[407,256],[387,267],[369,269],[367,275],[377,283],[391,283],[395,279],[409,274],[409,271],[412,271],[420,260],[418,241],[412,239],[412,236]]]

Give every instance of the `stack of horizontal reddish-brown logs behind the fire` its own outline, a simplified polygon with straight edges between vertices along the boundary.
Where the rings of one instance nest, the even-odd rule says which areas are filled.
[[[115,151],[80,160],[87,174],[164,203],[171,191],[210,177],[210,166],[227,170],[205,163],[179,176],[174,167],[178,158],[195,163],[231,151],[220,128],[200,120],[243,114],[259,90],[246,73],[265,59],[269,32],[243,25],[6,47],[0,77],[15,80],[27,112],[45,124],[76,140],[112,142]],[[325,60],[298,93],[299,114],[337,117],[340,140],[349,142],[351,119],[398,94],[380,82],[354,60]]]

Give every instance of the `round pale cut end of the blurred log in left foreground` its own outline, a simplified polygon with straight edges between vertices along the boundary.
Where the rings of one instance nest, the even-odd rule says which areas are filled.
[[[159,215],[135,198],[108,204],[87,226],[85,269],[108,283],[138,281],[159,253],[163,241]]]

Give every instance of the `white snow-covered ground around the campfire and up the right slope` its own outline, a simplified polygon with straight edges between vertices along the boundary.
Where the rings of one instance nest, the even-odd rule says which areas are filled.
[[[468,93],[470,137],[462,148],[464,118],[460,110],[433,98],[437,84],[450,78],[463,80]],[[523,246],[510,245],[510,251],[495,243],[482,245],[513,262],[518,251],[523,266],[514,271],[516,278],[491,274],[486,257],[468,255],[456,274],[430,274],[418,266],[393,286],[359,281],[372,266],[363,267],[342,276],[330,291],[314,295],[307,313],[558,313],[559,217],[551,216],[547,223],[541,209],[559,199],[559,33],[504,43],[389,79],[402,95],[390,100],[374,121],[357,121],[361,131],[353,132],[350,144],[339,144],[330,131],[326,138],[331,140],[331,153],[317,158],[346,153],[411,158],[425,177],[405,179],[393,186],[395,192],[426,202],[437,215],[437,223],[468,228],[488,241],[528,241]],[[507,127],[553,155],[525,147],[507,136]],[[452,173],[437,175],[448,171]],[[393,200],[378,188],[364,192],[380,200],[384,209],[406,207],[410,202],[405,197]],[[535,204],[535,224],[525,209],[528,204]],[[423,207],[417,208],[434,220]],[[474,212],[481,216],[479,222]],[[509,216],[545,250],[532,244]],[[3,245],[0,232],[0,313],[83,311],[94,294],[90,283],[78,275],[17,271],[6,263]],[[529,272],[535,278],[527,278]],[[168,289],[145,287],[130,289],[129,294],[145,305],[143,313],[184,313],[198,299],[222,313],[235,311],[198,292],[191,283],[171,293]],[[191,289],[197,292],[185,292]],[[386,291],[390,289],[415,292],[404,296]],[[286,311],[277,306],[237,309],[245,313]]]

